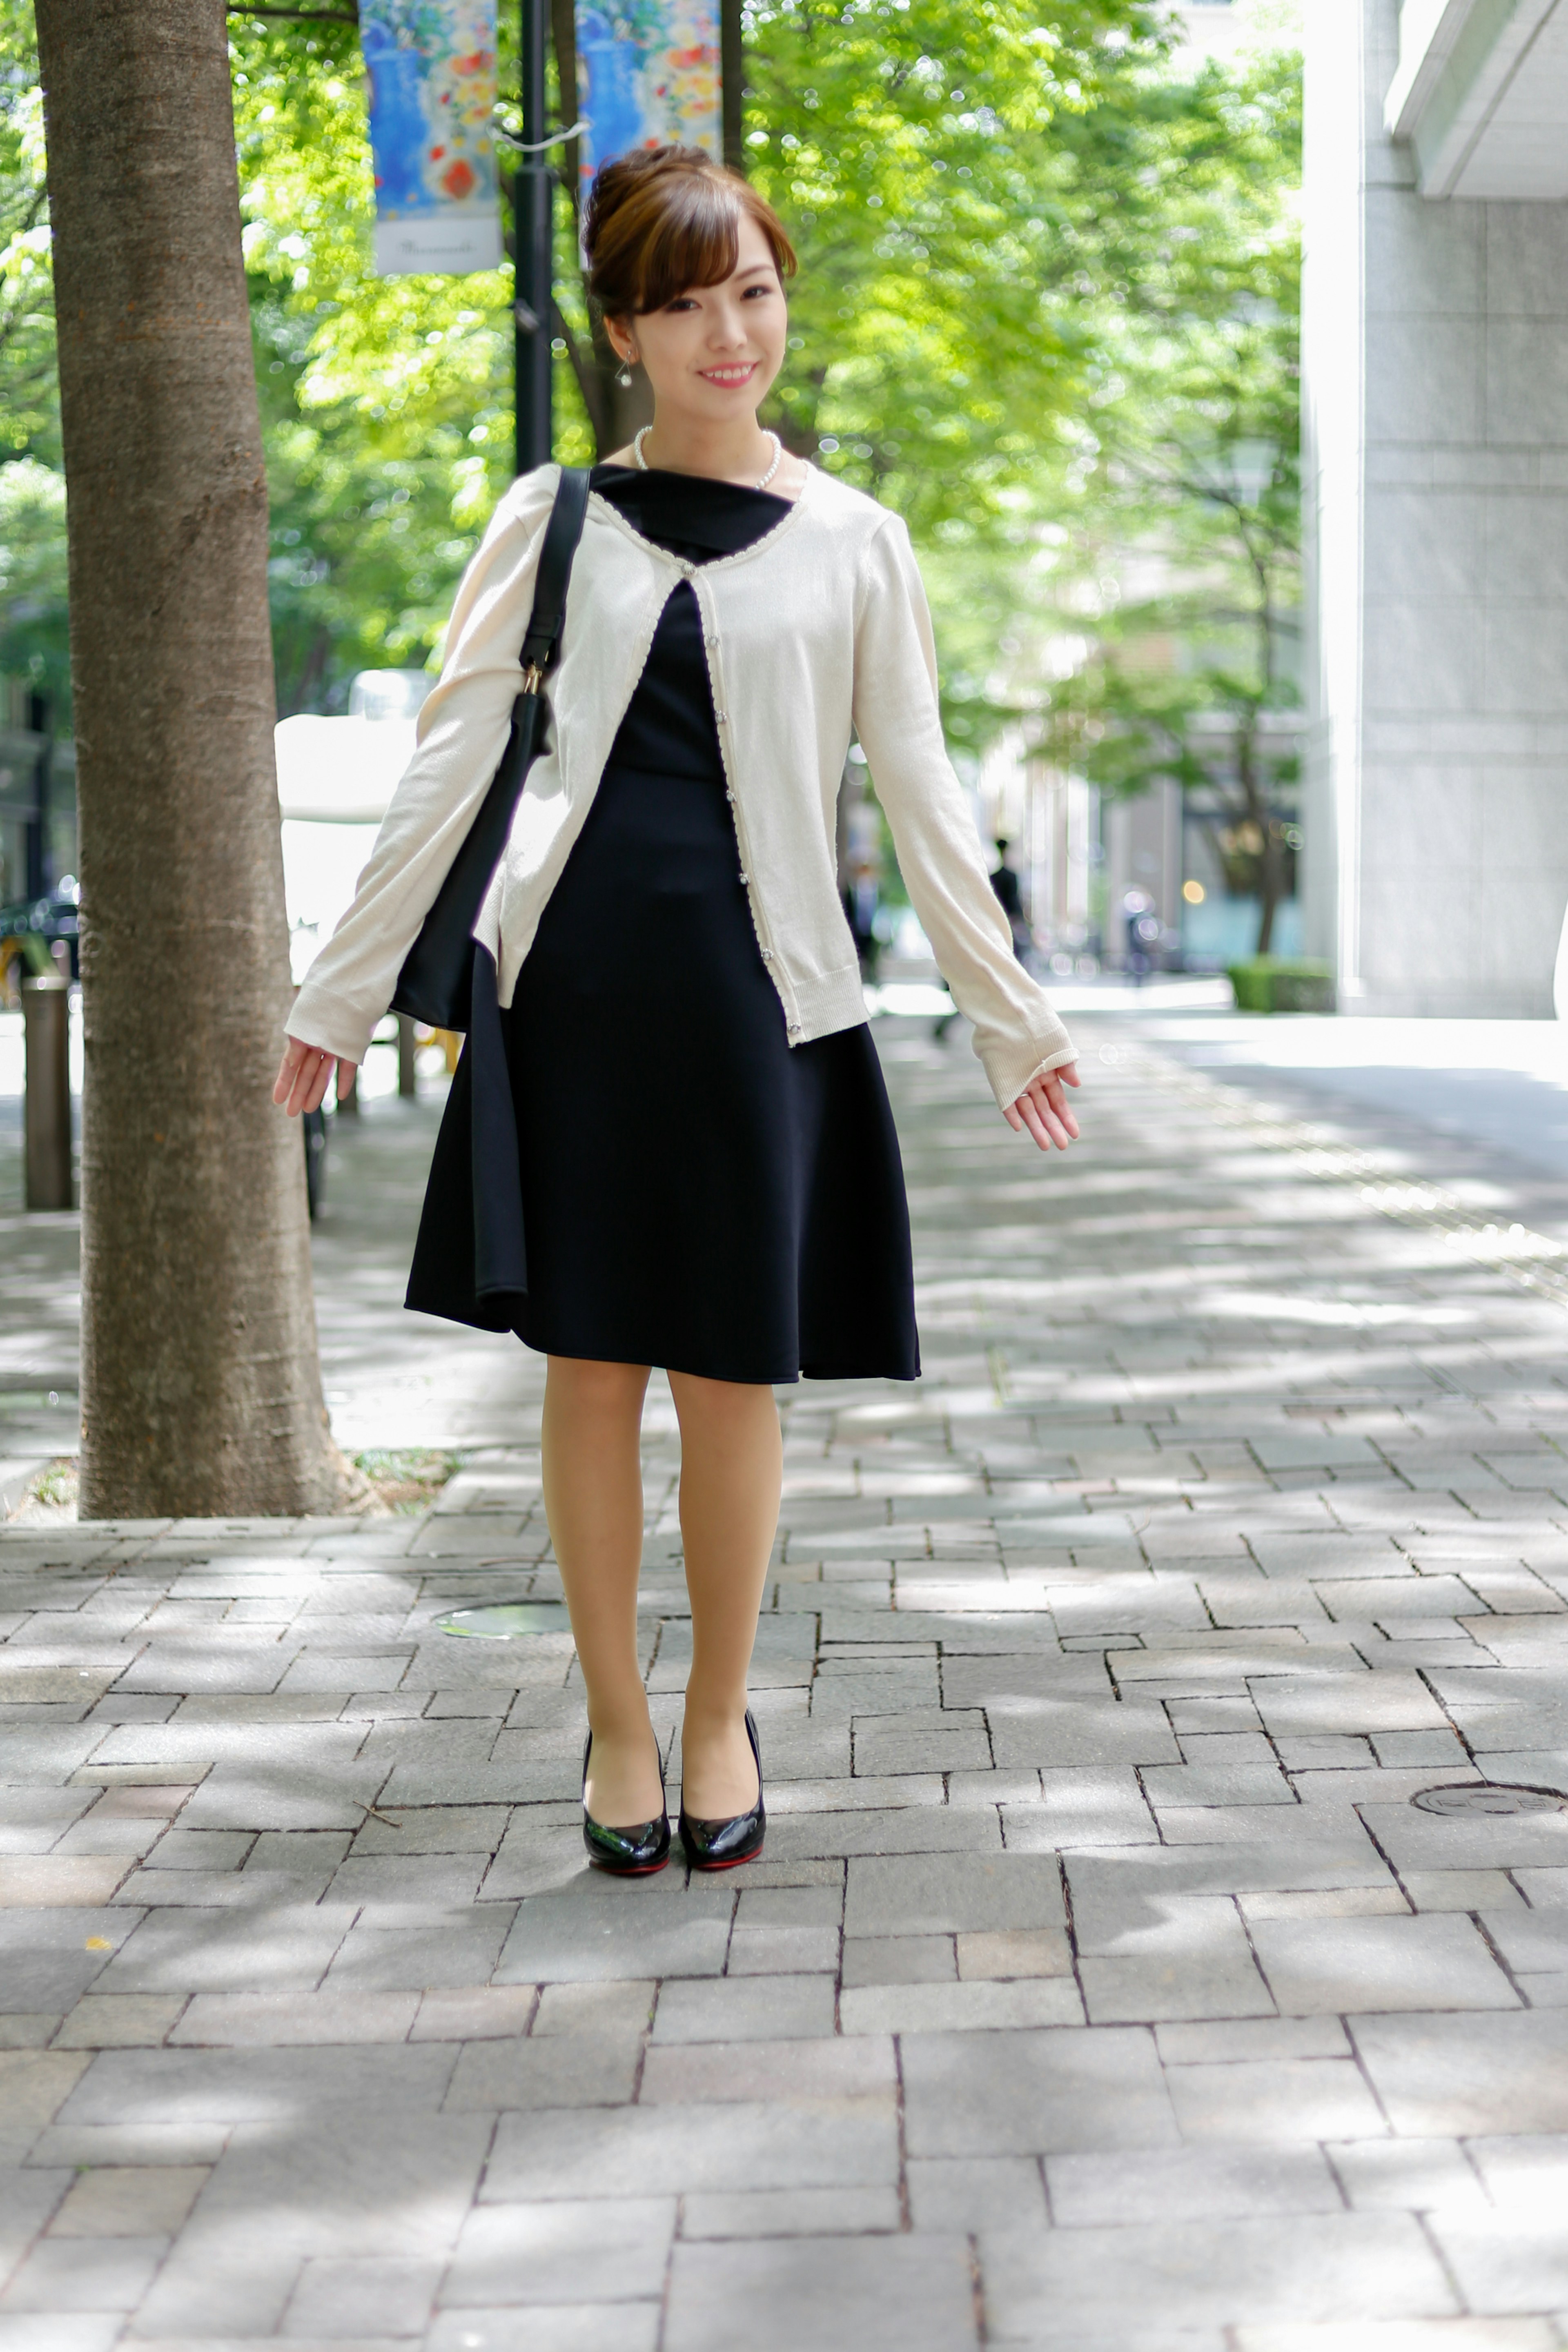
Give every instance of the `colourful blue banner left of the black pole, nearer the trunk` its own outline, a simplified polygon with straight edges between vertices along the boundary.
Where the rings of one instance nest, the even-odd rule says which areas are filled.
[[[376,270],[501,266],[496,0],[360,0],[376,160]]]

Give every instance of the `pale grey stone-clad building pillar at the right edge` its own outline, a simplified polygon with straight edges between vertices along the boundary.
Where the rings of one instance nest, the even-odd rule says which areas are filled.
[[[1305,14],[1307,948],[1345,1011],[1549,1016],[1568,205],[1422,195],[1396,0]]]

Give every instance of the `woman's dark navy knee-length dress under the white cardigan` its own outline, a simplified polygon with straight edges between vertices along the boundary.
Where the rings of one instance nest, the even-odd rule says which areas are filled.
[[[689,562],[790,510],[621,466],[592,487]],[[407,1303],[548,1355],[712,1381],[914,1381],[910,1214],[872,1033],[790,1047],[724,793],[682,581],[510,1011],[475,957]]]

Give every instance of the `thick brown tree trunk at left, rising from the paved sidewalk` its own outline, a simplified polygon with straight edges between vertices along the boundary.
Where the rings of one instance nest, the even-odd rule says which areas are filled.
[[[82,1515],[339,1501],[223,0],[38,0],[82,854]]]

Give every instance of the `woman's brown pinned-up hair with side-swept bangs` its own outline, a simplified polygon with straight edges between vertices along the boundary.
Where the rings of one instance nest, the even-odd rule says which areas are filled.
[[[686,287],[722,285],[741,252],[741,219],[769,240],[778,275],[795,247],[757,191],[701,148],[642,148],[602,162],[583,209],[588,292],[607,318],[663,310]]]

